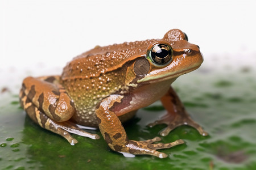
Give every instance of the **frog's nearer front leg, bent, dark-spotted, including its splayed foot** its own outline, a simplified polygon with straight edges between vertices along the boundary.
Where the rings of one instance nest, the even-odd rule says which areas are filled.
[[[125,107],[125,96],[111,95],[106,97],[96,105],[96,116],[98,125],[108,146],[114,151],[127,152],[134,155],[153,155],[159,158],[166,158],[167,155],[156,150],[162,148],[170,148],[175,145],[184,143],[182,140],[177,140],[172,143],[155,143],[160,141],[160,138],[149,139],[147,141],[132,141],[129,140],[121,121],[115,112],[120,111],[120,106]],[[126,108],[122,108],[126,109]]]

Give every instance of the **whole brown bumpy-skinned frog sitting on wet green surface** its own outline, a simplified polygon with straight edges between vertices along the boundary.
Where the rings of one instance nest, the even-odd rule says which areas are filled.
[[[20,105],[32,121],[61,135],[71,145],[78,142],[71,133],[100,138],[84,130],[86,126],[100,129],[113,151],[167,158],[157,150],[181,145],[182,139],[169,143],[161,143],[160,137],[131,140],[123,122],[133,120],[138,109],[160,100],[166,114],[148,126],[166,124],[161,136],[181,125],[208,135],[192,120],[171,86],[180,75],[196,70],[201,63],[199,46],[188,42],[180,29],[171,29],[163,39],[96,46],[68,62],[61,75],[25,78]]]

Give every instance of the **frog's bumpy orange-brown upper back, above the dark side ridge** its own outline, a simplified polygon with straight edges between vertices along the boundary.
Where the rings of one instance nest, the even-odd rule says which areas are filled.
[[[146,41],[124,42],[109,46],[96,46],[96,48],[82,53],[72,59],[64,67],[62,78],[79,76],[99,76],[108,71],[117,70],[127,61],[143,56],[147,52],[147,46],[155,39]]]

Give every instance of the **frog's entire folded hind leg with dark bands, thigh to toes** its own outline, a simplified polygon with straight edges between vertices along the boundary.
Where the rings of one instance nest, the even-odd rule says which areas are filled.
[[[20,105],[34,122],[63,136],[71,145],[77,143],[77,140],[68,132],[92,139],[100,138],[68,121],[76,110],[67,92],[59,84],[59,76],[24,79],[19,97]]]

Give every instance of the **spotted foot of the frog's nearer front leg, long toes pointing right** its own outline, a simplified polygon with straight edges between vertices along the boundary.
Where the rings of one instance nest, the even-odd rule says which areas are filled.
[[[122,148],[122,152],[128,152],[134,155],[152,155],[157,156],[158,158],[166,158],[168,156],[167,154],[164,154],[163,152],[159,152],[156,150],[170,148],[184,143],[184,141],[181,139],[170,143],[154,143],[160,141],[159,139],[159,137],[156,137],[154,139],[149,139],[147,141],[129,140],[127,145],[124,148]]]

